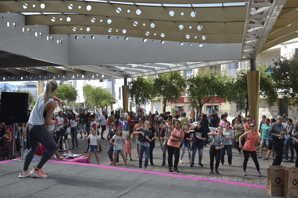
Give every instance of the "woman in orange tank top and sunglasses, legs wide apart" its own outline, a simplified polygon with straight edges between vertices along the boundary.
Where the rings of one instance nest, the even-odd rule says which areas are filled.
[[[254,164],[257,167],[258,176],[261,177],[260,172],[260,165],[257,159],[257,151],[255,144],[258,142],[258,144],[261,143],[261,138],[258,133],[256,133],[256,125],[255,123],[250,123],[251,131],[246,131],[241,136],[239,136],[239,147],[242,148],[241,139],[243,137],[246,137],[246,141],[244,143],[244,146],[242,148],[243,154],[244,154],[244,161],[243,161],[243,175],[246,176],[246,166],[249,159],[249,154],[252,156],[252,160],[254,161]]]

